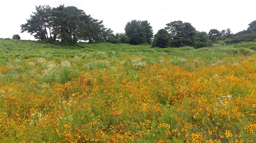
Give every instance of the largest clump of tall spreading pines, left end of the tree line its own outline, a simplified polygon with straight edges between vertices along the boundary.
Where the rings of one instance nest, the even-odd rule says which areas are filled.
[[[35,39],[46,42],[60,39],[63,43],[73,45],[77,40],[106,42],[113,35],[113,31],[102,24],[102,20],[93,19],[75,6],[51,8],[44,5],[36,6],[35,9],[27,22],[20,25],[22,33],[26,31]]]

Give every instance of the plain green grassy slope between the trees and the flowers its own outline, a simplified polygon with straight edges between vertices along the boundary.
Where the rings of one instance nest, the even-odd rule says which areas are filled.
[[[68,47],[45,44],[38,41],[0,39],[0,61],[2,62],[8,61],[8,59],[46,58],[50,60],[73,58],[74,56],[84,57],[88,53],[97,54],[99,52],[104,52],[107,56],[115,54],[115,56],[181,56],[184,58],[211,58],[213,56],[221,58],[221,56],[255,54],[253,50],[233,48],[233,46],[215,46],[213,48],[195,50],[191,47],[151,48],[151,45],[87,44],[81,42],[76,46]]]

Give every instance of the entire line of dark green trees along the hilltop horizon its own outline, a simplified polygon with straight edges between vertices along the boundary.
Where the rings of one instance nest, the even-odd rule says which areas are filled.
[[[20,25],[21,32],[26,31],[35,39],[45,40],[46,43],[54,43],[58,39],[64,45],[75,45],[78,40],[84,40],[90,43],[151,44],[152,47],[160,48],[201,48],[211,46],[218,40],[256,39],[256,20],[249,24],[247,31],[238,34],[232,34],[229,28],[222,31],[211,29],[209,33],[200,32],[190,23],[180,20],[167,23],[155,35],[148,21],[131,20],[125,25],[125,33],[113,34],[111,28],[105,28],[103,20],[93,19],[90,14],[85,14],[75,6],[51,8],[44,5],[35,6],[35,9],[27,22]]]

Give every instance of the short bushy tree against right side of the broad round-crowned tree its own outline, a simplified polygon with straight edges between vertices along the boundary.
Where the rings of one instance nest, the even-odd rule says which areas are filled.
[[[209,36],[206,32],[199,32],[197,31],[195,36],[195,45],[194,48],[202,48],[202,47],[208,47],[211,46],[212,42],[209,40]]]

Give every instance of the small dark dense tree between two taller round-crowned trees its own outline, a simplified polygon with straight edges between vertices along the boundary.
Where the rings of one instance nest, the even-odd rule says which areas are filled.
[[[152,48],[160,47],[166,48],[169,46],[169,33],[165,29],[160,29],[157,34],[154,35],[152,42]]]

